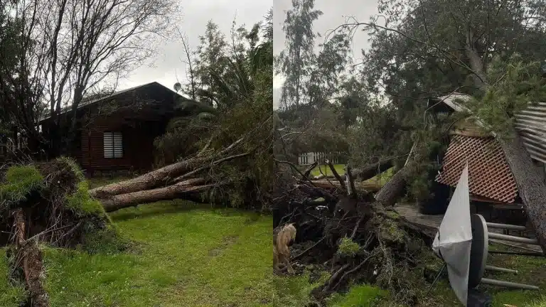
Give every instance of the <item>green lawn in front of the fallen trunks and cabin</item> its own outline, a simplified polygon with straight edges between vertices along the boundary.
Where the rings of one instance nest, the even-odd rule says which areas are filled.
[[[51,306],[272,306],[271,217],[191,206],[114,212],[137,252],[46,247]]]

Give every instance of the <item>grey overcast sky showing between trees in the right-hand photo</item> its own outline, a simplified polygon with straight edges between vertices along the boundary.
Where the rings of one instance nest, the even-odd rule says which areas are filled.
[[[284,49],[284,31],[282,24],[286,18],[286,11],[291,9],[291,0],[273,0],[273,52],[278,55]],[[343,24],[347,16],[353,16],[358,21],[369,21],[370,16],[378,14],[377,0],[316,0],[315,9],[322,11],[322,15],[313,23],[313,31],[321,33],[322,38],[316,38],[316,52],[323,43],[324,34],[337,26]],[[353,39],[353,57],[355,63],[362,58],[361,50],[368,49],[368,35],[358,31]],[[280,87],[282,87],[282,76],[276,75],[273,82],[273,107],[279,107]]]

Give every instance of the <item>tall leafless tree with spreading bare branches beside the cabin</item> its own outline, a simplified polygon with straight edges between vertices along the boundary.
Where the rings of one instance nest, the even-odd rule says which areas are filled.
[[[55,156],[70,150],[75,110],[87,92],[105,82],[117,84],[148,59],[177,6],[171,0],[21,0],[9,11],[21,23],[18,76],[29,84],[26,97],[48,102],[54,122],[49,149]],[[39,117],[31,115],[26,120],[35,123]]]

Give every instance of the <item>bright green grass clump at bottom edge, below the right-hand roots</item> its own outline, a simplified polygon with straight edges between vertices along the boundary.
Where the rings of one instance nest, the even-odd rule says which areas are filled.
[[[377,302],[388,296],[388,291],[370,285],[358,285],[350,287],[347,293],[335,293],[328,300],[331,307],[371,307],[377,306]]]

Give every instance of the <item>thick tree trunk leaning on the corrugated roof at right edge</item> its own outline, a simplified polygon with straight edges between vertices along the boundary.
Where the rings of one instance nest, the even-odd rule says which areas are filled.
[[[531,222],[542,250],[546,252],[546,184],[540,177],[518,134],[513,141],[499,139],[510,165],[525,213]]]

